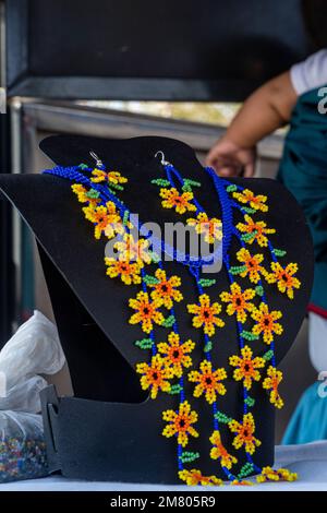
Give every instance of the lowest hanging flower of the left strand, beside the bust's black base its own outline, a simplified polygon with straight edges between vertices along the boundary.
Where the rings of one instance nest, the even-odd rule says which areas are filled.
[[[198,432],[192,426],[197,421],[197,413],[191,410],[191,405],[187,401],[180,404],[178,413],[173,409],[164,411],[162,418],[170,422],[162,431],[164,437],[170,438],[177,434],[178,443],[183,448],[189,443],[189,436],[198,437]]]

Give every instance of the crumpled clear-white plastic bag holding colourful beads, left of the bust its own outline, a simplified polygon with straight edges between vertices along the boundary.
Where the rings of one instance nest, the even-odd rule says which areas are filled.
[[[47,475],[39,399],[47,381],[39,374],[55,374],[64,362],[55,324],[38,311],[0,351],[0,482]]]

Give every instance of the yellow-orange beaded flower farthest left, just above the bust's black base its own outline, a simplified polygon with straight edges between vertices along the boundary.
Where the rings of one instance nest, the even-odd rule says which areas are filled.
[[[141,386],[143,390],[150,389],[150,397],[155,399],[158,392],[169,392],[169,379],[173,378],[173,370],[169,368],[160,355],[153,356],[150,363],[137,363],[136,372],[143,374]]]

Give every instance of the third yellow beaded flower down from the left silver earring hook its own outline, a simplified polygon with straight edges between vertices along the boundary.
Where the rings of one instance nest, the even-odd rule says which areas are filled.
[[[116,234],[124,231],[121,217],[112,201],[107,201],[106,206],[90,204],[83,207],[86,219],[95,224],[94,236],[99,239],[102,234],[111,239]]]

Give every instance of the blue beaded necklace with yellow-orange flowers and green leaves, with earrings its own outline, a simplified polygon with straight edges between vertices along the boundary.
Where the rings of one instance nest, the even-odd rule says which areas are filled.
[[[246,478],[253,474],[257,475],[258,482],[294,480],[296,475],[284,468],[272,469],[268,466],[261,468],[255,464],[253,454],[261,445],[261,441],[255,437],[255,420],[251,411],[255,399],[250,395],[250,391],[253,382],[262,380],[270,403],[277,408],[283,405],[278,392],[282,373],[276,368],[275,356],[275,337],[282,333],[282,325],[278,322],[282,313],[269,310],[264,281],[277,285],[279,293],[293,299],[294,289],[301,285],[294,276],[298,265],[280,264],[279,259],[286,255],[286,251],[274,248],[268,238],[268,235],[275,234],[276,230],[268,228],[265,222],[254,220],[252,217],[258,212],[268,211],[267,196],[255,195],[247,188],[218,178],[213,169],[204,168],[213,180],[221,205],[221,220],[210,218],[194,194],[194,189],[201,187],[201,183],[183,178],[172,164],[165,160],[164,155],[161,165],[165,178],[155,178],[152,183],[160,188],[158,200],[161,199],[162,207],[174,210],[179,215],[192,215],[186,218],[186,224],[194,227],[197,234],[202,234],[207,243],[222,238],[222,262],[230,286],[228,290],[221,291],[219,297],[227,315],[235,318],[239,341],[239,354],[229,358],[230,369],[215,368],[211,358],[213,337],[216,332],[223,329],[225,321],[221,318],[221,303],[211,302],[210,296],[204,289],[214,289],[216,281],[204,277],[202,259],[194,261],[185,254],[184,259],[179,261],[189,270],[198,293],[197,303],[187,305],[186,310],[192,314],[193,326],[203,332],[204,359],[198,368],[194,367],[192,351],[196,344],[192,339],[183,342],[174,310],[174,303],[183,300],[180,290],[181,278],[177,275],[167,276],[160,254],[149,248],[145,237],[134,240],[131,212],[119,198],[128,179],[118,171],[108,171],[99,159],[96,168],[82,164],[65,168],[57,166],[44,172],[73,182],[72,190],[78,201],[85,205],[83,212],[94,225],[96,239],[110,240],[116,237],[114,248],[118,258],[105,258],[107,275],[110,278],[120,278],[125,285],[141,286],[136,297],[129,301],[129,307],[133,311],[129,322],[132,325],[140,325],[145,333],[144,338],[136,341],[135,345],[144,353],[150,351],[150,359],[137,363],[136,372],[141,374],[142,389],[148,390],[153,399],[161,393],[179,397],[177,409],[162,413],[162,419],[167,422],[162,436],[177,440],[180,479],[187,485],[222,484],[222,480],[215,475],[205,476],[199,469],[190,468],[201,455],[189,450],[192,439],[197,438],[199,433],[196,430],[198,414],[185,394],[185,379],[187,379],[190,383],[194,383],[193,396],[198,399],[204,398],[211,409],[210,457],[217,461],[231,484],[252,485],[253,482]],[[243,217],[243,220],[235,226],[234,211]],[[138,229],[142,234],[141,223]],[[238,265],[231,264],[229,254],[233,238],[240,244],[237,252]],[[247,249],[254,243],[267,248],[271,259],[269,270],[264,266],[262,253],[252,254]],[[156,246],[157,250],[171,252],[164,241]],[[175,256],[175,253],[173,254]],[[155,267],[154,274],[147,273],[149,265]],[[247,278],[253,286],[243,289],[239,283],[239,281],[242,283],[243,278]],[[255,301],[259,301],[259,305],[255,305]],[[254,323],[251,329],[245,330],[244,324],[250,320]],[[167,341],[157,342],[156,325],[170,330]],[[251,344],[255,345],[257,341],[262,341],[268,347],[261,356],[253,356],[255,347],[251,347]],[[241,419],[229,417],[219,407],[219,397],[227,393],[225,382],[228,374],[242,383]],[[233,453],[226,448],[221,426],[227,427],[233,436]],[[240,450],[245,455],[245,463],[241,467],[238,457]]]

